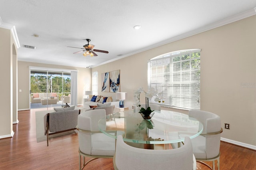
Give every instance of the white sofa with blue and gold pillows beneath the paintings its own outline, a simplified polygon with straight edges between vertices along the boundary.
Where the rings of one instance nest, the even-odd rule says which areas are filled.
[[[95,100],[94,100],[95,99]],[[113,101],[112,97],[104,97],[101,95],[89,95],[89,98],[84,99],[84,109],[91,109],[92,107],[97,107],[100,104],[114,105],[114,107],[119,107],[119,101]],[[100,105],[102,106],[102,105]]]

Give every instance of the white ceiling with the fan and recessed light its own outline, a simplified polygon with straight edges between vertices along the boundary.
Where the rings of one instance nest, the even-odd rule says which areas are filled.
[[[254,15],[255,7],[256,0],[1,0],[0,27],[15,26],[19,61],[86,67],[86,57],[73,54],[80,49],[67,46],[89,38],[109,51],[90,57],[95,67]]]

